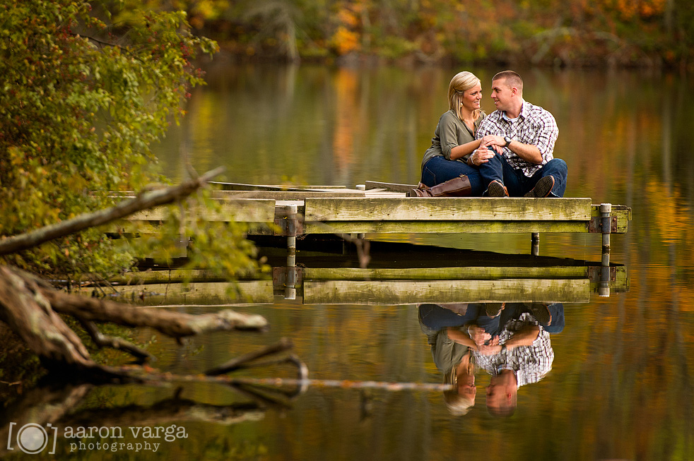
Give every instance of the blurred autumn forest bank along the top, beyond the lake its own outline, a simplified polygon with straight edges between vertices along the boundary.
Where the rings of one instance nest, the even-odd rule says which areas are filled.
[[[148,0],[245,59],[694,65],[689,0]]]

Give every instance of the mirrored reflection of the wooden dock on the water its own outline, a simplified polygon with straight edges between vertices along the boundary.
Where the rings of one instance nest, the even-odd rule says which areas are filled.
[[[341,245],[337,240],[305,243]],[[296,299],[302,304],[417,304],[421,302],[588,302],[591,294],[629,289],[623,265],[602,266],[570,258],[507,255],[371,242],[370,263],[360,268],[354,252],[312,252],[286,265],[286,256],[265,249],[272,280],[221,282],[205,271],[180,283],[176,270],[149,270],[112,280],[129,299],[153,304],[269,304]],[[300,252],[300,254],[303,252]],[[454,267],[451,267],[454,266]],[[167,282],[172,282],[168,283]],[[230,289],[235,293],[230,294]]]

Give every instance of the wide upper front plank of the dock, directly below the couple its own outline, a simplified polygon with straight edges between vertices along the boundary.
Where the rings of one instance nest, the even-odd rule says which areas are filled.
[[[306,221],[584,220],[590,198],[306,198]]]

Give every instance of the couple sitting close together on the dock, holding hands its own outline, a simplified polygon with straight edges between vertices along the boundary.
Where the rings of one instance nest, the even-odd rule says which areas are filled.
[[[491,97],[496,110],[486,115],[480,80],[470,72],[453,77],[450,109],[424,154],[421,184],[464,175],[462,196],[562,197],[567,166],[552,155],[559,135],[552,114],[523,99],[523,80],[514,71],[492,78]]]

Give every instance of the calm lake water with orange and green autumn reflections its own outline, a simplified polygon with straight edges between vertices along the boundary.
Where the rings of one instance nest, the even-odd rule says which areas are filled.
[[[160,168],[181,179],[189,158],[198,172],[225,165],[225,179],[242,183],[413,183],[438,117],[447,109],[449,80],[459,70],[464,69],[218,63],[210,68],[209,85],[194,91],[182,126],[172,128],[158,146]],[[481,78],[483,109],[491,112],[490,78],[502,69],[469,70]],[[611,261],[627,280],[609,297],[592,292],[589,299],[564,304],[565,326],[549,335],[551,371],[518,389],[511,417],[487,411],[490,375],[483,369],[476,371],[475,405],[464,416],[449,411],[441,390],[427,388],[314,385],[298,395],[264,390],[266,399],[259,400],[224,385],[104,387],[84,391],[73,413],[81,419],[71,424],[177,424],[188,437],[160,441],[156,453],[87,447],[72,454],[73,441],[61,438],[57,455],[99,460],[694,459],[694,82],[690,76],[648,71],[520,73],[525,99],[557,119],[555,156],[569,166],[565,195],[628,205],[633,220],[627,234],[612,237]],[[400,240],[514,255],[527,254],[530,247],[527,235]],[[599,265],[600,244],[597,234],[543,235],[540,254]],[[229,303],[265,316],[271,328],[263,335],[211,334],[182,347],[155,337],[148,349],[159,358],[155,366],[196,373],[287,337],[316,380],[444,382],[418,320],[417,302],[435,300],[302,301],[276,292],[262,304]],[[152,334],[141,333],[139,340],[148,342]],[[268,364],[240,376],[295,374],[289,364]]]

